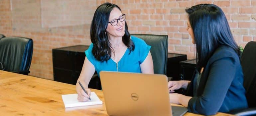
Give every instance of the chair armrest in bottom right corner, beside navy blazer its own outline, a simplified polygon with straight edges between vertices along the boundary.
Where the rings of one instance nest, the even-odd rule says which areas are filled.
[[[246,109],[240,109],[240,110],[233,110],[228,112],[228,114],[234,114],[237,116],[248,116],[248,115],[256,115],[256,107],[253,108],[246,108]]]

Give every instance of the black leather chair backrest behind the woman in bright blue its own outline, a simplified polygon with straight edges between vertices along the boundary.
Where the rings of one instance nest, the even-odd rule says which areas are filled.
[[[167,52],[168,52],[168,35],[153,34],[131,34],[143,39],[151,46],[150,53],[152,55],[155,74],[166,75],[167,69]]]

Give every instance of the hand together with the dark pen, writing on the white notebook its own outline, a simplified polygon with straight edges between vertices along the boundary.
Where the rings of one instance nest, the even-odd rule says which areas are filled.
[[[90,93],[91,93],[90,89],[88,89],[88,88],[85,89],[80,81],[78,81],[78,84],[82,88],[81,89],[79,87],[80,89],[77,89],[77,94],[78,94],[77,99],[78,99],[78,101],[87,101],[88,99],[91,100],[90,99]],[[78,85],[76,85],[76,86],[78,86]]]

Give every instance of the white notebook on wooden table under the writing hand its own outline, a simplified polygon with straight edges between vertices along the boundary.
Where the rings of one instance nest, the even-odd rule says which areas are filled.
[[[95,92],[91,92],[90,98],[91,98],[91,100],[88,100],[86,102],[80,102],[80,101],[77,100],[77,94],[65,94],[65,95],[62,95],[62,100],[64,102],[65,108],[67,108],[67,107],[77,107],[77,106],[102,104],[102,101],[95,94]]]

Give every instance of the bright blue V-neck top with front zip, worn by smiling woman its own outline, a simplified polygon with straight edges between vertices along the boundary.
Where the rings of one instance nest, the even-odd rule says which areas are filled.
[[[127,48],[122,58],[116,63],[111,58],[107,61],[98,61],[92,54],[93,44],[85,51],[86,58],[93,64],[96,72],[100,71],[118,71],[141,73],[140,64],[148,56],[151,46],[138,37],[131,36],[135,49],[131,51]],[[129,54],[130,53],[130,54]]]

